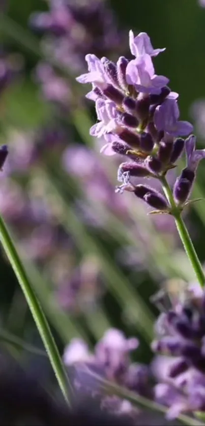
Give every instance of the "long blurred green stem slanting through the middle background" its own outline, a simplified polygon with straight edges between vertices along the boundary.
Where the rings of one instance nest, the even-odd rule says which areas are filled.
[[[79,249],[83,253],[92,252],[99,256],[102,272],[110,292],[122,307],[129,307],[133,318],[135,318],[136,326],[143,333],[145,339],[150,341],[153,336],[154,316],[149,308],[139,297],[139,294],[134,291],[127,278],[114,265],[113,259],[109,258],[105,249],[87,233],[84,224],[79,221],[76,213],[67,204],[61,185],[53,181],[52,177],[46,175],[44,171],[39,171],[39,173],[42,174],[42,179],[55,195],[56,203],[61,206],[62,212],[58,214],[58,220],[64,225],[69,234],[74,236]]]

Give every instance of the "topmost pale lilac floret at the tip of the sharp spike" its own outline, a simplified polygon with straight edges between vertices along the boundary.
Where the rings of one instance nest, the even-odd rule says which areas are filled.
[[[138,36],[134,37],[132,30],[129,32],[129,44],[131,53],[136,57],[142,56],[146,53],[150,56],[157,56],[160,52],[164,52],[166,49],[153,49],[150,37],[146,32],[140,32]]]

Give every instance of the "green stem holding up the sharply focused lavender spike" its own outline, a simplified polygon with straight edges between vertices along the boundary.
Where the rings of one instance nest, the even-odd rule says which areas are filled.
[[[197,277],[197,280],[198,280],[200,286],[204,287],[204,285],[205,285],[204,272],[203,272],[202,266],[200,264],[199,258],[196,254],[196,250],[195,250],[193,243],[191,241],[190,235],[189,235],[187,228],[185,226],[185,223],[182,219],[181,212],[179,211],[178,207],[175,205],[171,189],[169,187],[169,184],[168,184],[165,176],[163,176],[160,180],[161,180],[161,183],[162,183],[163,191],[164,191],[166,198],[169,201],[169,204],[171,206],[172,215],[174,216],[175,223],[177,225],[177,229],[178,229],[180,238],[182,240],[183,246],[185,248],[185,251],[187,253],[187,256],[188,256],[188,258],[191,262],[191,265],[194,269],[194,272],[196,274],[196,277]]]

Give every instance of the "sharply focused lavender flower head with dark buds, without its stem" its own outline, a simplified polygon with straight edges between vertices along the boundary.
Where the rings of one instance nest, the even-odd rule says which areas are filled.
[[[186,140],[193,126],[179,120],[178,93],[167,86],[169,80],[155,74],[153,57],[165,49],[154,49],[144,32],[134,37],[130,31],[130,50],[134,59],[121,56],[114,63],[106,57],[88,54],[88,73],[77,78],[92,83],[86,97],[95,101],[98,123],[90,133],[104,137],[102,152],[126,157],[118,170],[122,185],[116,190],[134,192],[157,211],[171,212],[169,202],[148,185],[135,184],[136,178],[161,180],[175,167],[186,151],[187,165],[173,185],[175,204],[183,208],[188,200],[196,168],[204,150],[195,150],[195,137]]]

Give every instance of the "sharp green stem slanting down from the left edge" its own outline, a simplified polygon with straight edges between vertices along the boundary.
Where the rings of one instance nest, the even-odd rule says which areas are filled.
[[[44,312],[27,278],[27,275],[24,271],[20,257],[16,251],[12,238],[9,235],[6,224],[4,223],[4,220],[1,217],[1,215],[0,215],[0,239],[4,247],[4,250],[8,256],[8,259],[11,263],[11,266],[14,270],[16,278],[21,286],[21,289],[23,291],[27,304],[31,310],[34,321],[36,322],[38,331],[44,343],[45,349],[47,351],[47,354],[48,354],[51,366],[54,370],[58,384],[63,392],[63,395],[66,401],[69,403],[68,386],[70,383],[68,381],[68,376],[64,369],[61,356],[54,342],[54,339],[50,331],[50,327],[48,325],[46,317],[44,315]],[[71,386],[70,386],[70,389],[71,389]]]

